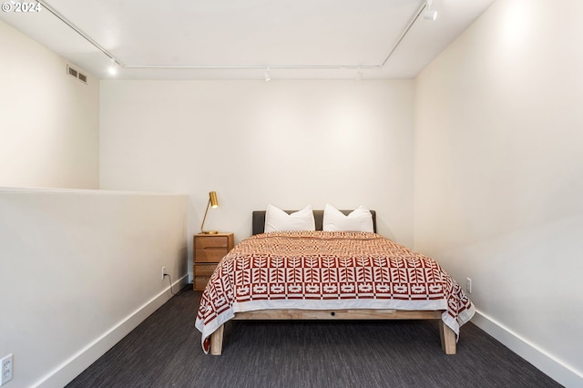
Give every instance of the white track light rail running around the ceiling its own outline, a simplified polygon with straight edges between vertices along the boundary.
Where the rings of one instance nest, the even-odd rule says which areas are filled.
[[[109,57],[112,64],[118,64],[118,66],[120,66],[121,68],[126,68],[126,69],[171,69],[171,70],[177,70],[177,69],[184,69],[184,70],[264,70],[267,68],[268,70],[267,70],[267,72],[265,72],[266,80],[267,80],[267,77],[269,77],[271,79],[270,69],[288,69],[288,70],[289,69],[298,69],[298,70],[302,70],[302,69],[307,69],[307,70],[358,69],[359,73],[363,69],[381,69],[387,63],[389,58],[393,55],[396,48],[401,44],[404,37],[407,35],[407,33],[409,32],[411,27],[413,27],[414,23],[417,21],[419,16],[424,13],[424,11],[425,11],[425,15],[429,15],[428,13],[431,13],[432,15],[436,15],[436,11],[431,10],[431,5],[432,5],[433,0],[424,0],[424,2],[419,6],[419,8],[415,12],[414,16],[409,21],[409,23],[405,26],[404,31],[401,33],[401,35],[399,36],[397,41],[394,43],[393,47],[391,48],[391,51],[389,51],[389,54],[384,58],[383,63],[380,65],[278,65],[278,66],[273,66],[273,65],[270,65],[270,66],[266,66],[266,65],[249,65],[249,66],[246,66],[246,65],[242,65],[242,66],[128,65],[128,64],[123,63],[121,60],[118,59],[118,57],[114,56],[109,51],[107,51],[107,49],[105,47],[100,46],[95,40],[93,40],[91,38],[91,36],[87,36],[87,34],[83,30],[81,30],[79,27],[75,26],[75,24],[73,22],[71,22],[64,15],[62,15],[58,11],[56,11],[56,9],[53,8],[51,5],[49,5],[46,2],[46,0],[37,0],[37,1],[38,1],[38,3],[43,5],[43,7],[48,12],[55,15],[58,19],[60,19],[63,23],[65,23],[66,26],[69,26],[71,29],[73,29],[75,32],[77,32],[77,34],[79,36],[82,36],[83,38],[85,38],[87,40],[87,42],[89,42],[91,45],[95,46],[99,51],[101,51],[103,54],[105,54],[107,57]],[[428,18],[428,17],[425,17],[425,18]],[[431,17],[431,19],[435,20],[435,16]]]

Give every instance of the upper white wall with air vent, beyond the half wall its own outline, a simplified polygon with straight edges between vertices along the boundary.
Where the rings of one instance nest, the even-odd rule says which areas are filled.
[[[0,186],[98,189],[98,80],[3,21],[0,53]]]

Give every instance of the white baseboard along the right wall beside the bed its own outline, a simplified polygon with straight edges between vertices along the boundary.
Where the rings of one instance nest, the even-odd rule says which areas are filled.
[[[472,323],[503,343],[512,352],[532,363],[537,369],[566,387],[583,386],[583,373],[553,355],[538,348],[535,344],[520,337],[504,325],[496,322],[481,311],[476,311]]]

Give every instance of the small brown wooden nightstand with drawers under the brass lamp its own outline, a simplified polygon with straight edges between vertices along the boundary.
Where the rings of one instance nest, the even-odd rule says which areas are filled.
[[[209,282],[210,275],[217,268],[229,250],[232,250],[234,238],[232,233],[216,233],[194,235],[193,244],[193,278],[194,291],[203,291]]]

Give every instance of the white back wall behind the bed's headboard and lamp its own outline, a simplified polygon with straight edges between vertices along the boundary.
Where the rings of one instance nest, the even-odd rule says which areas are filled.
[[[101,188],[189,193],[189,235],[216,190],[205,226],[237,241],[252,210],[330,202],[413,243],[413,81],[102,81],[100,96]]]

